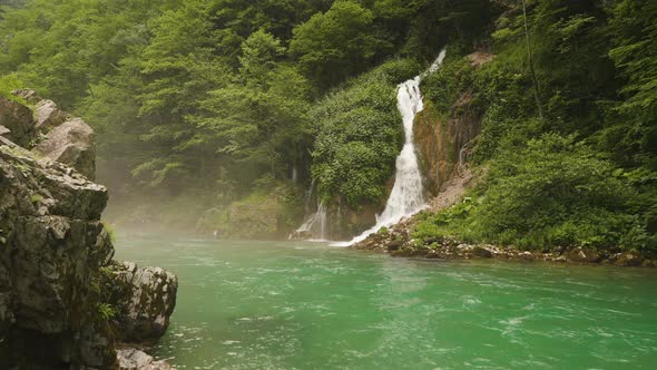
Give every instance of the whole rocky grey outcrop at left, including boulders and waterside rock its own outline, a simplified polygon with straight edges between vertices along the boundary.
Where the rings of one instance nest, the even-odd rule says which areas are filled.
[[[140,361],[117,359],[115,347],[164,333],[177,280],[161,269],[128,264],[130,278],[111,269],[100,222],[108,194],[90,181],[91,128],[21,94],[31,107],[0,99],[0,368],[154,368],[134,352]]]

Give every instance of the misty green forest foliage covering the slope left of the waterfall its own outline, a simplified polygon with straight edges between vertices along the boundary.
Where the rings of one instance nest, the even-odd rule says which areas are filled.
[[[115,199],[196,198],[180,214],[199,214],[227,210],[263,186],[301,197],[314,175],[322,198],[337,203],[346,189],[357,208],[384,197],[401,132],[394,86],[420,64],[392,62],[350,79],[403,55],[424,64],[450,36],[481,29],[494,8],[448,0],[18,1],[0,13],[0,90],[31,87],[86,118],[99,138],[98,177]],[[361,111],[343,105],[341,117],[317,116],[341,100]],[[352,118],[367,125],[360,138],[313,148],[315,136],[337,135],[334,125],[356,129]],[[350,174],[363,181],[342,184],[350,174],[340,166],[354,159],[362,172]]]

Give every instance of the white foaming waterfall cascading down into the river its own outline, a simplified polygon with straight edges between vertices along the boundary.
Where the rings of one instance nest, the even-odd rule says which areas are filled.
[[[433,65],[425,72],[398,86],[396,105],[402,114],[405,142],[402,152],[396,157],[394,186],[385,204],[385,210],[376,216],[376,225],[372,226],[372,228],[350,242],[335,245],[347,246],[362,242],[381,227],[394,225],[403,217],[413,215],[426,206],[422,175],[418,166],[418,156],[415,155],[415,144],[413,142],[413,121],[415,116],[424,109],[420,81],[423,77],[440,68],[445,55],[447,49],[442,49]]]

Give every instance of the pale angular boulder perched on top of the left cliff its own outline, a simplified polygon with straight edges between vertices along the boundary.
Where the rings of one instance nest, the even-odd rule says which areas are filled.
[[[75,118],[51,129],[35,152],[76,168],[89,179],[96,174],[94,129]]]

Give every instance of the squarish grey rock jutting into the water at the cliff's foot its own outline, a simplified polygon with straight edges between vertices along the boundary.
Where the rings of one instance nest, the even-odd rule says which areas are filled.
[[[133,262],[111,265],[117,334],[126,342],[159,339],[176,306],[178,279],[160,267],[139,269]]]

